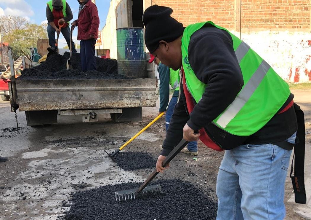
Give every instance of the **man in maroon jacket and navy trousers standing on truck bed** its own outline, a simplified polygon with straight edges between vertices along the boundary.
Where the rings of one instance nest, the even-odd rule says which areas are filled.
[[[72,23],[78,27],[82,71],[96,70],[95,43],[98,38],[99,16],[96,5],[90,0],[78,0],[78,20]]]

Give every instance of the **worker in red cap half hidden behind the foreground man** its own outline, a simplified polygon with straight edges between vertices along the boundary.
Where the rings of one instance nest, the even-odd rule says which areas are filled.
[[[174,111],[174,107],[178,100],[178,91],[179,91],[179,70],[174,71],[173,69],[165,66],[160,62],[159,58],[150,54],[149,63],[154,62],[159,68],[159,79],[160,79],[160,109],[159,114],[165,112],[165,129],[167,130],[169,127],[169,123],[171,121],[171,116]],[[169,85],[174,89],[173,96],[171,101],[169,101]],[[166,110],[167,107],[167,110]],[[163,149],[161,147],[161,149]],[[181,152],[191,154],[193,156],[197,156],[197,141],[192,141],[188,143],[188,147],[185,147],[181,150]]]

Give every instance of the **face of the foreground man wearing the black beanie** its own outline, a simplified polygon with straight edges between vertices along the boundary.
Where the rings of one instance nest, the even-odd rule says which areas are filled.
[[[178,70],[182,65],[181,48],[176,44],[160,41],[159,47],[152,53],[156,58],[160,59],[165,66]]]

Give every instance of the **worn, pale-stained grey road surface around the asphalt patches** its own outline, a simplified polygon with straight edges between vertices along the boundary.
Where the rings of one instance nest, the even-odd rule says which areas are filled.
[[[305,182],[308,204],[293,202],[290,178],[286,182],[286,219],[311,218],[311,90],[295,90],[295,101],[305,111],[306,162]],[[100,122],[82,124],[80,117],[61,116],[59,123],[45,128],[26,126],[24,112],[17,112],[21,127],[15,127],[15,116],[9,102],[0,102],[0,156],[9,161],[0,163],[0,219],[56,219],[64,210],[62,205],[70,193],[100,185],[127,181],[142,181],[152,169],[124,171],[106,156],[148,124],[158,113],[158,107],[144,108],[143,121],[113,123],[109,115]],[[149,152],[157,158],[159,145],[165,136],[164,119],[134,140],[125,151]],[[157,179],[181,178],[207,191],[216,198],[215,185],[223,153],[211,151],[199,143],[198,160],[179,154],[171,168]],[[181,192],[182,193],[182,192]],[[114,192],[112,195],[114,196]],[[104,198],[103,198],[104,199]]]

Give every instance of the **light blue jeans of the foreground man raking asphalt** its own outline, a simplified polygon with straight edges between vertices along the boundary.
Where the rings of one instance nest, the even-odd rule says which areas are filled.
[[[296,133],[289,139],[295,143]],[[292,150],[240,145],[226,150],[217,176],[217,219],[284,219],[284,189]]]

